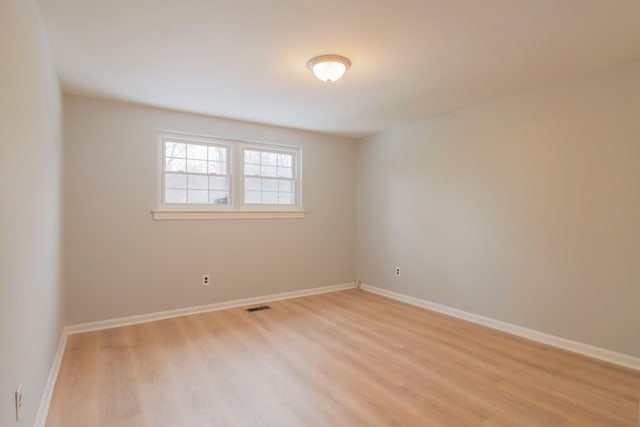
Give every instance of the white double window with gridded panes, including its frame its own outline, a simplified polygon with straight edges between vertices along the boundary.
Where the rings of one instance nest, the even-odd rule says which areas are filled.
[[[160,146],[156,219],[178,211],[302,212],[300,147],[167,133]]]

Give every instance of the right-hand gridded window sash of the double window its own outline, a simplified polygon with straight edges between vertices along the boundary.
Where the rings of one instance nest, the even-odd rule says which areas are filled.
[[[245,147],[245,205],[296,205],[296,152]]]

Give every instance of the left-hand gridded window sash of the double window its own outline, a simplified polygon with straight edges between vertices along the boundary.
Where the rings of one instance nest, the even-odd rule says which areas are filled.
[[[178,205],[230,205],[230,147],[163,140],[163,201]]]

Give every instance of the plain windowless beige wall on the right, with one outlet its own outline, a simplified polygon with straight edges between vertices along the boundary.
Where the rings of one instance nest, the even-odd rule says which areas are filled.
[[[388,130],[357,159],[359,280],[640,356],[640,62]]]

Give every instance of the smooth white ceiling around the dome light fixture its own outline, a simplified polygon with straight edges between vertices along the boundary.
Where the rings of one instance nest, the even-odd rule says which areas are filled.
[[[639,0],[39,4],[66,92],[346,136],[640,57]]]

